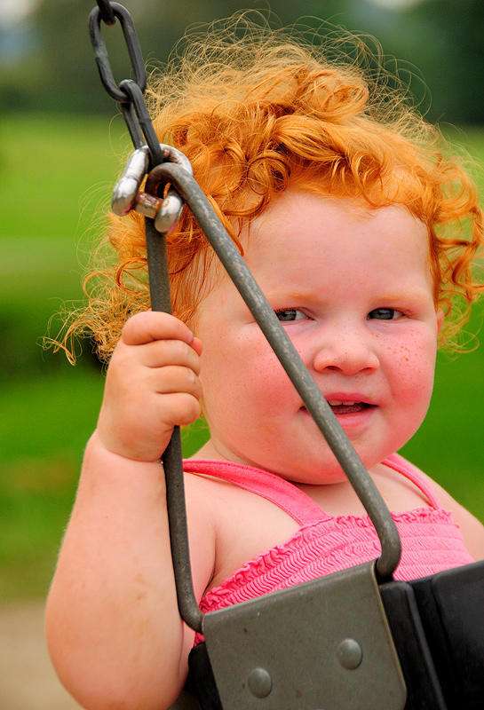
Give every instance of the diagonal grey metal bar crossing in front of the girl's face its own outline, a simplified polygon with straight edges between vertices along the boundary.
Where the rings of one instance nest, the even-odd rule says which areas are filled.
[[[399,533],[377,486],[337,422],[331,407],[322,396],[298,351],[291,343],[290,337],[267,303],[257,281],[253,278],[234,242],[226,233],[215,211],[210,206],[210,202],[194,178],[179,165],[168,162],[158,165],[152,171],[150,177],[153,179],[155,179],[154,173],[156,179],[159,177],[163,182],[174,185],[186,201],[212,248],[226,268],[226,272],[234,281],[234,285],[257,320],[258,326],[266,335],[267,341],[326,438],[377,530],[382,546],[382,554],[377,560],[379,581],[391,579],[401,556]]]

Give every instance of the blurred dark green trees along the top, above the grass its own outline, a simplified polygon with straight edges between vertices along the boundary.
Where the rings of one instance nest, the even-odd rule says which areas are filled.
[[[10,0],[2,2],[10,6]],[[12,0],[14,4],[20,9],[10,14],[5,10],[0,26],[2,112],[36,108],[111,113],[106,96],[93,91],[96,69],[83,31],[92,0]],[[264,11],[269,7],[265,0],[137,0],[127,4],[145,56],[160,61],[167,59],[190,24],[224,18],[242,8]],[[21,8],[25,8],[24,16]],[[484,122],[481,0],[271,0],[270,9],[283,26],[300,18],[314,24],[310,18],[316,18],[376,36],[385,54],[424,77],[411,88],[430,121]],[[19,16],[22,21],[15,21]],[[121,29],[119,36],[112,31],[104,34],[115,76],[121,80],[127,68]],[[425,83],[431,88],[432,101]]]

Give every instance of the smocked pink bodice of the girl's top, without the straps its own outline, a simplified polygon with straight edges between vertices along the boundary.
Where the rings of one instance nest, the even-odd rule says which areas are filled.
[[[395,579],[417,579],[473,561],[448,510],[421,508],[394,514],[393,519],[402,543]],[[215,611],[369,562],[380,554],[377,533],[368,516],[340,516],[307,525],[210,589],[200,608]]]

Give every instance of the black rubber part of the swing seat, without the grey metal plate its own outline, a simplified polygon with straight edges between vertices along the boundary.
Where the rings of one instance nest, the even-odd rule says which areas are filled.
[[[484,562],[421,580],[387,582],[380,595],[406,685],[405,710],[482,710]],[[279,654],[277,663],[285,674],[284,664],[290,664],[291,657]],[[310,657],[307,666],[317,677]],[[189,667],[186,697],[192,699],[185,700],[187,706],[199,703],[202,710],[226,710],[205,643],[191,651]],[[266,708],[267,700],[253,697],[252,707]],[[304,698],[292,706],[306,707]]]

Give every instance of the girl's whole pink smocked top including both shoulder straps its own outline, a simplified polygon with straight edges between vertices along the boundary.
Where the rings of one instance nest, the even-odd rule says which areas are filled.
[[[440,503],[424,477],[399,454],[383,461],[417,485],[429,507],[392,514],[401,536],[401,562],[394,578],[415,580],[474,560],[464,546],[458,526]],[[202,611],[215,611],[300,582],[338,572],[376,559],[380,543],[368,516],[327,515],[284,478],[230,461],[184,462],[195,474],[222,478],[285,510],[301,528],[290,540],[263,552],[234,572],[222,585],[202,597]],[[200,639],[195,639],[195,643]]]

